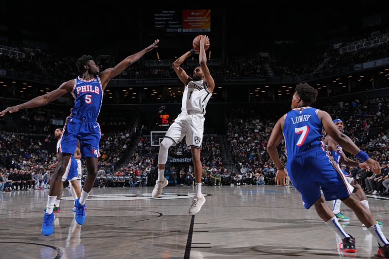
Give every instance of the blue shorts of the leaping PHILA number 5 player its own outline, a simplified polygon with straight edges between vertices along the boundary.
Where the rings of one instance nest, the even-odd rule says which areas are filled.
[[[61,153],[73,155],[77,147],[77,141],[80,140],[82,157],[99,157],[100,138],[100,125],[96,120],[72,115],[66,118],[66,123],[62,130]]]

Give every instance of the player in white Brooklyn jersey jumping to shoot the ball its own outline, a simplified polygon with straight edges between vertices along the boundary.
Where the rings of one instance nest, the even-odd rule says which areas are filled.
[[[163,187],[168,185],[168,181],[163,176],[167,161],[168,150],[174,143],[178,143],[186,136],[186,144],[191,147],[192,160],[195,166],[196,194],[193,198],[189,214],[200,211],[205,203],[205,197],[201,193],[202,165],[200,161],[200,149],[204,132],[205,107],[211,98],[215,83],[207,67],[207,56],[205,45],[209,38],[201,35],[200,50],[195,49],[180,56],[172,65],[178,78],[184,83],[184,94],[182,96],[181,113],[175,122],[169,127],[162,142],[159,144],[158,154],[158,180],[154,187],[152,197],[158,197],[162,193]],[[180,67],[182,63],[194,53],[199,53],[200,67],[196,67],[193,77],[190,77]]]

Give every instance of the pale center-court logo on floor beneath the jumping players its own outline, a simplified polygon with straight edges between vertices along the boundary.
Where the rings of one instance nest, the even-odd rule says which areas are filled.
[[[203,193],[204,196],[208,194]],[[88,201],[134,201],[134,200],[172,200],[172,199],[189,199],[195,197],[195,193],[173,193],[164,192],[158,198],[151,198],[151,193],[124,193],[124,194],[90,194]],[[72,201],[73,197],[67,196],[61,199]]]

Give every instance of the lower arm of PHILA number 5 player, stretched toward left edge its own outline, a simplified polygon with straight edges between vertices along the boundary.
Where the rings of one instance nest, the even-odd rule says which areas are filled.
[[[67,92],[71,92],[74,86],[74,79],[69,80],[68,82],[62,83],[57,89],[51,91],[50,93],[40,95],[34,99],[25,102],[23,104],[18,104],[16,106],[11,106],[0,112],[0,116],[4,116],[7,112],[13,113],[17,112],[20,109],[34,108],[46,105],[54,100],[57,100],[59,97],[64,95]]]

